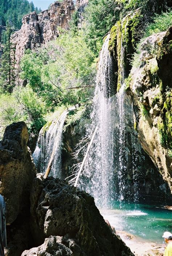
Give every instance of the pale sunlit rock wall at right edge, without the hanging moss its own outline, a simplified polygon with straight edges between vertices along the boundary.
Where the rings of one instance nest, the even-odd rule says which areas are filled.
[[[131,70],[130,89],[140,142],[172,190],[171,40],[172,28],[144,40]]]

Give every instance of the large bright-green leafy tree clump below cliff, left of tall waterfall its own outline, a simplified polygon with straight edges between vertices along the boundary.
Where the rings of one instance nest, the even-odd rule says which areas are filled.
[[[21,77],[42,97],[49,111],[61,104],[81,104],[88,101],[92,92],[92,87],[87,86],[94,85],[94,58],[82,31],[77,36],[62,31],[46,47],[26,51],[21,60]]]

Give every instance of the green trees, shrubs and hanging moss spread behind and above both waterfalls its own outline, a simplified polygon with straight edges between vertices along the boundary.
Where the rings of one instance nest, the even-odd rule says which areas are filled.
[[[128,77],[134,63],[132,59],[138,56],[135,52],[139,51],[139,40],[144,36],[166,30],[171,24],[169,6],[169,1],[160,1],[156,5],[150,0],[144,0],[144,4],[140,0],[90,0],[83,13],[82,26],[78,27],[79,13],[75,11],[70,31],[61,30],[61,35],[55,41],[41,48],[26,50],[20,61],[21,78],[27,83],[25,88],[15,85],[12,68],[14,63],[12,65],[7,61],[10,59],[10,42],[7,41],[9,45],[7,51],[4,51],[2,65],[5,68],[4,73],[1,71],[0,82],[0,119],[3,126],[7,125],[9,120],[24,120],[31,130],[39,131],[48,120],[47,116],[59,107],[84,108],[90,104],[97,57],[103,44],[103,37],[110,29],[109,50],[114,56],[114,77],[119,84],[121,34],[125,34],[124,68]],[[155,10],[154,13],[152,8]],[[129,80],[126,80],[127,87],[130,86]]]

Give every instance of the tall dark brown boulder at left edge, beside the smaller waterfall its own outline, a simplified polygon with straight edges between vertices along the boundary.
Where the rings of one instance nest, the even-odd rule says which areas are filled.
[[[7,126],[0,141],[0,193],[7,203],[7,224],[30,204],[30,187],[36,169],[26,145],[28,138],[26,124],[18,122]]]

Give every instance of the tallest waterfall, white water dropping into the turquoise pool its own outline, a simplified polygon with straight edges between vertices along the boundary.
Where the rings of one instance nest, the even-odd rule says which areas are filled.
[[[122,207],[122,202],[129,196],[127,191],[123,37],[121,39],[120,63],[121,87],[115,96],[111,96],[114,80],[113,62],[108,51],[109,38],[110,35],[107,35],[99,57],[91,115],[92,125],[87,134],[89,136],[93,134],[95,127],[98,127],[98,130],[79,179],[79,186],[93,195],[95,203],[101,209],[111,208],[114,201],[119,201],[120,207]],[[136,167],[134,157],[132,165],[131,168],[134,172]]]

